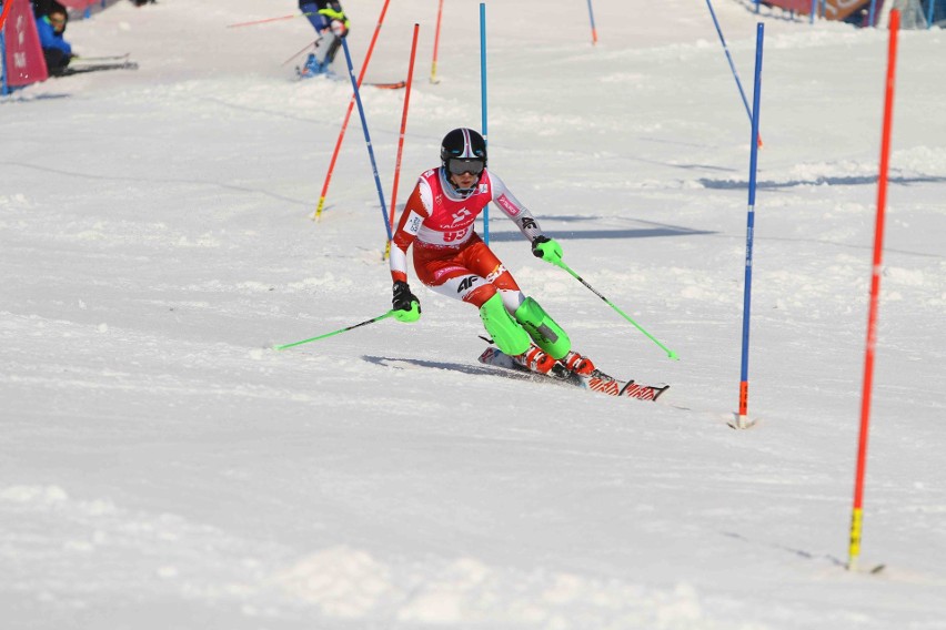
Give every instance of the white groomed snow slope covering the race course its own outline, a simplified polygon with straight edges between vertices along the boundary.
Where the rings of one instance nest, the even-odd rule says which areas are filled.
[[[364,58],[381,0],[346,2]],[[389,8],[399,205],[480,128],[479,2]],[[292,81],[294,2],[121,2],[70,24],[137,72],[0,101],[0,618],[10,629],[946,628],[943,31],[900,33],[861,565],[847,545],[887,32],[714,4],[751,96],[765,23],[749,431],[737,405],[749,124],[702,2],[491,3],[491,167],[565,261],[525,291],[666,404],[481,366],[476,313],[284,352],[390,307],[351,96]],[[339,58],[343,58],[340,55]],[[298,61],[296,61],[298,62]],[[341,69],[340,69],[341,70]],[[403,91],[363,102],[390,202]],[[938,424],[937,424],[938,423]]]

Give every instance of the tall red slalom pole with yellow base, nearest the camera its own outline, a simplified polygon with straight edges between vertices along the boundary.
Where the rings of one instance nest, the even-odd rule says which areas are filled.
[[[894,79],[897,65],[897,32],[900,12],[890,11],[890,42],[887,50],[887,84],[884,99],[884,132],[880,141],[880,173],[877,180],[877,220],[874,231],[874,266],[870,276],[870,306],[867,315],[867,349],[864,358],[864,389],[861,395],[861,438],[857,444],[857,472],[854,480],[854,509],[851,517],[851,548],[847,569],[857,569],[864,521],[864,472],[867,465],[867,433],[870,424],[870,394],[874,388],[874,350],[877,346],[877,303],[880,294],[880,260],[884,251],[884,213],[887,205],[887,170],[890,163],[890,129],[894,114]]]

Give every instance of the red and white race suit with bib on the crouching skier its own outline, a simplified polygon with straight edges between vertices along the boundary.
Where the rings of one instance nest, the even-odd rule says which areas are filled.
[[[474,232],[473,222],[493,202],[532,242],[542,230],[503,181],[483,170],[473,191],[463,195],[443,167],[417,180],[407,199],[391,247],[391,277],[407,282],[407,248],[414,245],[414,271],[432,289],[477,308],[497,292],[511,312],[524,299],[512,274]]]

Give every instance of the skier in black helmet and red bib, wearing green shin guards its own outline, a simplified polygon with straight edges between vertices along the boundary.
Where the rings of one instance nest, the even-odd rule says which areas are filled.
[[[394,317],[415,322],[421,304],[407,284],[407,248],[414,271],[433,291],[469,302],[496,346],[520,365],[547,374],[556,362],[590,374],[594,364],[571,348],[568,336],[532,297],[520,291],[509,270],[483,243],[473,222],[493,202],[547,262],[562,247],[542,233],[529,210],[486,169],[486,142],[471,129],[454,129],[440,149],[441,166],[423,173],[407,199],[391,247]]]

